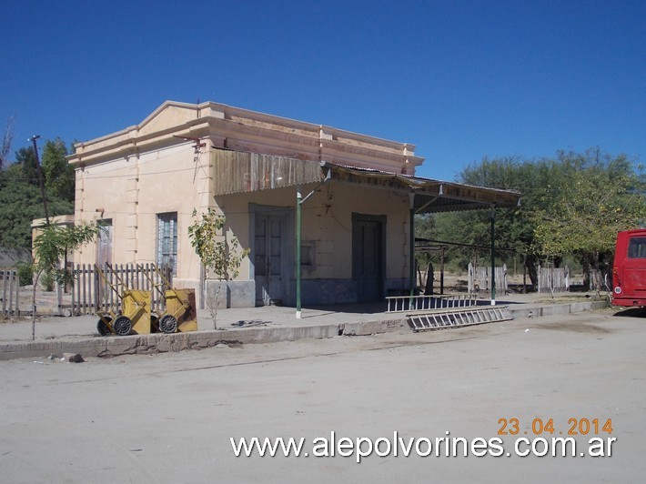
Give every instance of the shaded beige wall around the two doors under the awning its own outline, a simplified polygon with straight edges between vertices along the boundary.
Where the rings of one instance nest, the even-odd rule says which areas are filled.
[[[303,197],[317,187],[302,187]],[[296,187],[216,197],[227,217],[227,230],[242,247],[252,247],[249,205],[285,207],[295,211]],[[352,277],[352,214],[386,217],[386,277],[409,277],[409,196],[393,190],[328,182],[303,204],[302,240],[315,242],[315,267],[304,279]],[[295,245],[294,245],[295,246]],[[251,275],[253,254],[241,267],[241,279]],[[294,274],[291,275],[294,277]]]

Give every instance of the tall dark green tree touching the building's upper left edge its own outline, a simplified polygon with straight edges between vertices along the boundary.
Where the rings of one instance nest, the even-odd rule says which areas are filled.
[[[75,174],[74,167],[67,162],[67,153],[67,146],[60,137],[46,141],[42,156],[43,175],[49,197],[74,202]]]

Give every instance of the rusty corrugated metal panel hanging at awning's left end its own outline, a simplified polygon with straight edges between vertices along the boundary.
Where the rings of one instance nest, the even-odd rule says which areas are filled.
[[[215,195],[293,187],[322,179],[321,166],[286,156],[215,149],[212,152]]]

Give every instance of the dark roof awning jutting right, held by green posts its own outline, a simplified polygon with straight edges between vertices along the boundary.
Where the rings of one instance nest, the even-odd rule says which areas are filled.
[[[417,213],[478,210],[490,207],[516,207],[520,193],[499,188],[473,187],[454,182],[399,175],[356,166],[342,166],[321,162],[322,169],[331,170],[331,178],[339,182],[399,189],[414,194]]]

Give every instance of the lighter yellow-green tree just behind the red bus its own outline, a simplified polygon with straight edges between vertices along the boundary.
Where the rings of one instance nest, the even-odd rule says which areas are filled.
[[[641,167],[599,149],[560,152],[559,158],[568,176],[550,191],[552,203],[533,212],[535,245],[547,256],[574,255],[583,267],[606,274],[617,232],[646,219]]]

